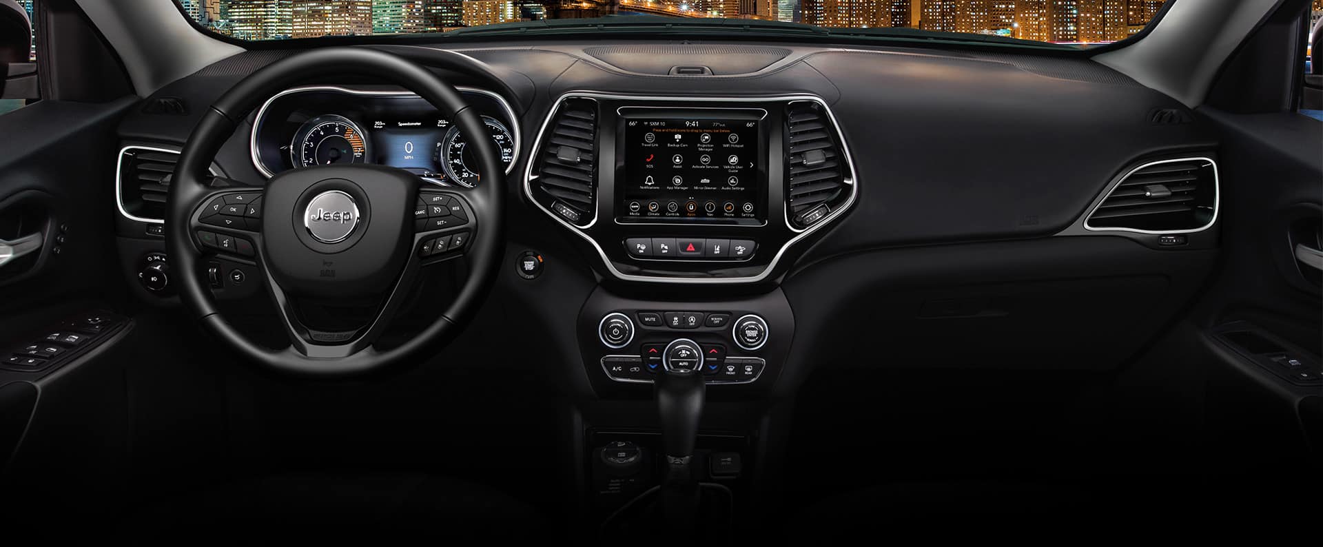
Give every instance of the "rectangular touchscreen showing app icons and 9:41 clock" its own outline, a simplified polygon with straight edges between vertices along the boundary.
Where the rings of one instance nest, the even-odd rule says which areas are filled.
[[[762,222],[758,120],[631,118],[622,221]]]

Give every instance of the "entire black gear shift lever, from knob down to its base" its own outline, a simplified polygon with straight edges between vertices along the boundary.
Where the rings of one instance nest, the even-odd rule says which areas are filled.
[[[692,340],[677,338],[662,353],[662,374],[656,379],[658,414],[662,416],[662,444],[667,476],[662,484],[662,509],[668,530],[692,532],[699,513],[699,481],[693,472],[693,445],[703,415],[703,349]]]

